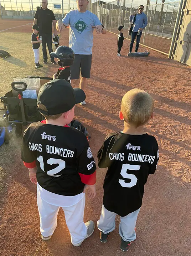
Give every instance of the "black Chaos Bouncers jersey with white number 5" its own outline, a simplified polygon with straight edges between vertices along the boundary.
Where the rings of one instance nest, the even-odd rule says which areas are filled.
[[[144,185],[159,160],[154,136],[109,134],[98,151],[98,165],[108,167],[104,180],[104,207],[127,216],[141,207]]]

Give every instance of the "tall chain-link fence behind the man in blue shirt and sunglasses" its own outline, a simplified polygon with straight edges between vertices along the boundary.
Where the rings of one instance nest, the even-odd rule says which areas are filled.
[[[112,33],[118,34],[118,26],[124,25],[123,34],[129,40],[131,38],[128,33],[129,17],[133,12],[138,13],[139,5],[143,4],[148,25],[143,30],[140,44],[164,54],[169,53],[179,1],[151,4],[149,0],[118,0],[106,4],[102,3],[101,1],[93,3],[92,12]]]

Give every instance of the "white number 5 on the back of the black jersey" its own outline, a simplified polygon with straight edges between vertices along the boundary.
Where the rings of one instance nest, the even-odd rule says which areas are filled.
[[[131,188],[133,186],[136,185],[137,182],[137,178],[134,174],[129,174],[127,173],[127,170],[135,170],[138,171],[140,169],[140,165],[131,165],[131,164],[123,164],[122,165],[122,170],[121,170],[121,175],[123,176],[123,178],[125,179],[130,179],[130,182],[125,182],[125,180],[120,179],[119,183],[122,187],[124,188]]]

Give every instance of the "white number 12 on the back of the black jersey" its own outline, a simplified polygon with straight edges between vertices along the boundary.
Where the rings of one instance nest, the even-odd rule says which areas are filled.
[[[44,161],[43,161],[43,157],[40,155],[37,160],[39,161],[40,163],[40,166],[41,166],[41,170],[43,170],[43,172],[45,172],[44,170]],[[47,174],[49,176],[53,176],[53,177],[59,177],[61,176],[62,174],[59,174],[59,175],[55,175],[59,172],[61,172],[65,167],[66,167],[66,162],[62,159],[56,159],[56,158],[50,158],[47,160],[47,164],[50,164],[50,165],[53,165],[53,164],[58,164],[58,166],[50,171],[47,172]]]

